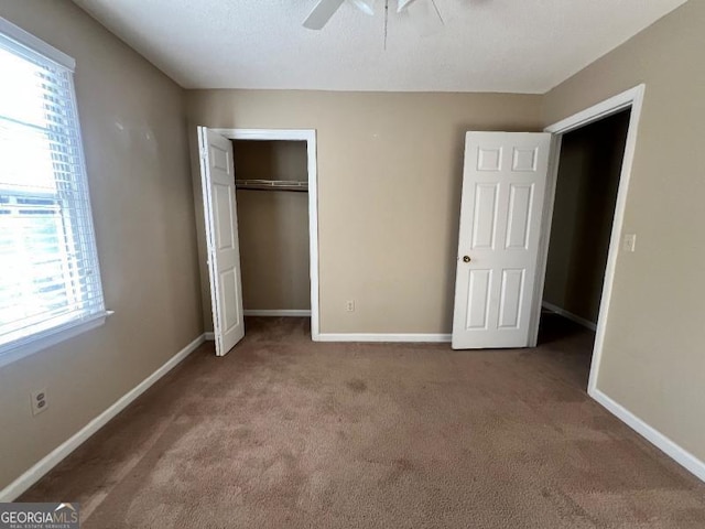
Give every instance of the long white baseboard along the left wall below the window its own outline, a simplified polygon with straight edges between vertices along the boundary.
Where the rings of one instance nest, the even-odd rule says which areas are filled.
[[[133,389],[120,397],[110,408],[100,413],[88,424],[82,428],[78,432],[72,435],[68,440],[64,441],[56,449],[50,452],[46,456],[35,463],[29,471],[18,477],[10,485],[0,490],[0,503],[14,501],[22,493],[34,485],[42,476],[48,471],[54,468],[61,463],[68,454],[80,446],[88,438],[102,428],[110,419],[120,413],[127,408],[133,400],[140,395],[147,391],[154,382],[166,375],[172,368],[174,368],[181,360],[186,358],[204,342],[204,336],[200,335],[194,339],[186,347],[181,349],[174,356],[172,356],[162,367],[156,369],[152,375],[142,380]]]

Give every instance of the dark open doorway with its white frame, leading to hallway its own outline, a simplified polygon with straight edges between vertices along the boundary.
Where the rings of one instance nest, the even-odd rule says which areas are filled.
[[[636,249],[636,234],[623,234],[622,229],[643,93],[644,85],[637,86],[545,129],[554,134],[554,148],[542,223],[540,281],[533,296],[535,334],[530,345],[538,344],[540,322],[544,336],[555,336],[562,326],[570,325],[594,332],[592,356],[585,360],[589,363],[587,391],[590,396],[596,391],[617,256],[620,249]],[[588,128],[590,126],[595,128]],[[572,132],[577,134],[571,136]],[[605,132],[611,144],[599,138]],[[586,162],[587,159],[581,162],[581,155],[589,151],[593,162]],[[608,182],[600,182],[599,186],[590,182],[595,173],[605,171],[611,173]],[[566,174],[572,174],[573,181]],[[589,183],[593,188],[587,186],[587,191],[579,193],[582,185],[576,185],[575,180],[583,181],[583,186]],[[592,201],[599,202],[601,210],[590,212],[587,204]],[[582,212],[577,210],[581,208]],[[595,215],[590,217],[590,213]],[[599,229],[592,229],[590,218],[598,219],[595,223]],[[589,234],[588,244],[579,239],[579,234]],[[594,250],[594,255],[589,257],[590,263],[583,266],[579,259],[585,258],[586,249]],[[586,269],[590,279],[581,284]],[[553,328],[547,328],[550,325]]]

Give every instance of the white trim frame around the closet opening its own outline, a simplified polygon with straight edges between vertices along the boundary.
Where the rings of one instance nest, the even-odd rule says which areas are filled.
[[[294,140],[306,142],[308,173],[308,260],[311,273],[311,338],[319,341],[318,312],[318,165],[315,129],[209,129],[229,140]]]

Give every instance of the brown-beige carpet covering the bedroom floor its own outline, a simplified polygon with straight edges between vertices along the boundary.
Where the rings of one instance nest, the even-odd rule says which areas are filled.
[[[21,499],[85,528],[698,528],[705,487],[584,391],[592,335],[539,349],[314,344],[252,319]]]

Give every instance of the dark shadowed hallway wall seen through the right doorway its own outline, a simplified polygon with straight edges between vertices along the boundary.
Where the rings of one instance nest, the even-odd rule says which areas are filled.
[[[543,300],[597,323],[629,110],[563,137]]]

